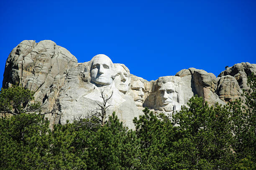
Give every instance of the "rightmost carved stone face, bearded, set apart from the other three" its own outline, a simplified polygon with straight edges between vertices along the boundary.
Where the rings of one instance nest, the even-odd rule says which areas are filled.
[[[161,106],[177,102],[177,92],[175,92],[175,85],[173,82],[162,83],[158,91]]]

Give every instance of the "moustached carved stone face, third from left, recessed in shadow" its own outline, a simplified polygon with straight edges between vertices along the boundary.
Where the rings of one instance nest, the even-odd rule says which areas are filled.
[[[131,84],[131,92],[130,95],[133,97],[135,104],[137,107],[142,107],[143,104],[143,96],[144,96],[144,83],[141,80],[133,82]]]

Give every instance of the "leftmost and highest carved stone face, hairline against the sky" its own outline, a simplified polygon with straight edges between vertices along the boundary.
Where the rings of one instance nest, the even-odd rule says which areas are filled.
[[[91,81],[98,87],[110,85],[113,82],[113,62],[106,55],[96,55],[92,59],[90,76]]]

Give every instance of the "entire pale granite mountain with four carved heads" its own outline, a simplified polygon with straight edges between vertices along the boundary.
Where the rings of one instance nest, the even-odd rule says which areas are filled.
[[[210,105],[239,98],[242,89],[248,90],[247,76],[252,72],[256,75],[256,64],[242,62],[218,77],[189,68],[147,81],[104,54],[78,63],[74,55],[51,40],[24,40],[8,56],[3,87],[18,83],[34,91],[35,99],[50,112],[46,117],[51,125],[90,114],[102,102],[103,92],[106,98],[111,96],[108,114],[115,111],[126,126],[134,128],[133,118],[141,115],[144,107],[167,114],[180,110],[194,95]]]

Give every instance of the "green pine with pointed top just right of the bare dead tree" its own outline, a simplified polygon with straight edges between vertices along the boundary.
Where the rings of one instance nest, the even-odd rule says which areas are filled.
[[[138,164],[139,141],[132,130],[123,127],[115,113],[88,144],[88,169],[128,170]]]

